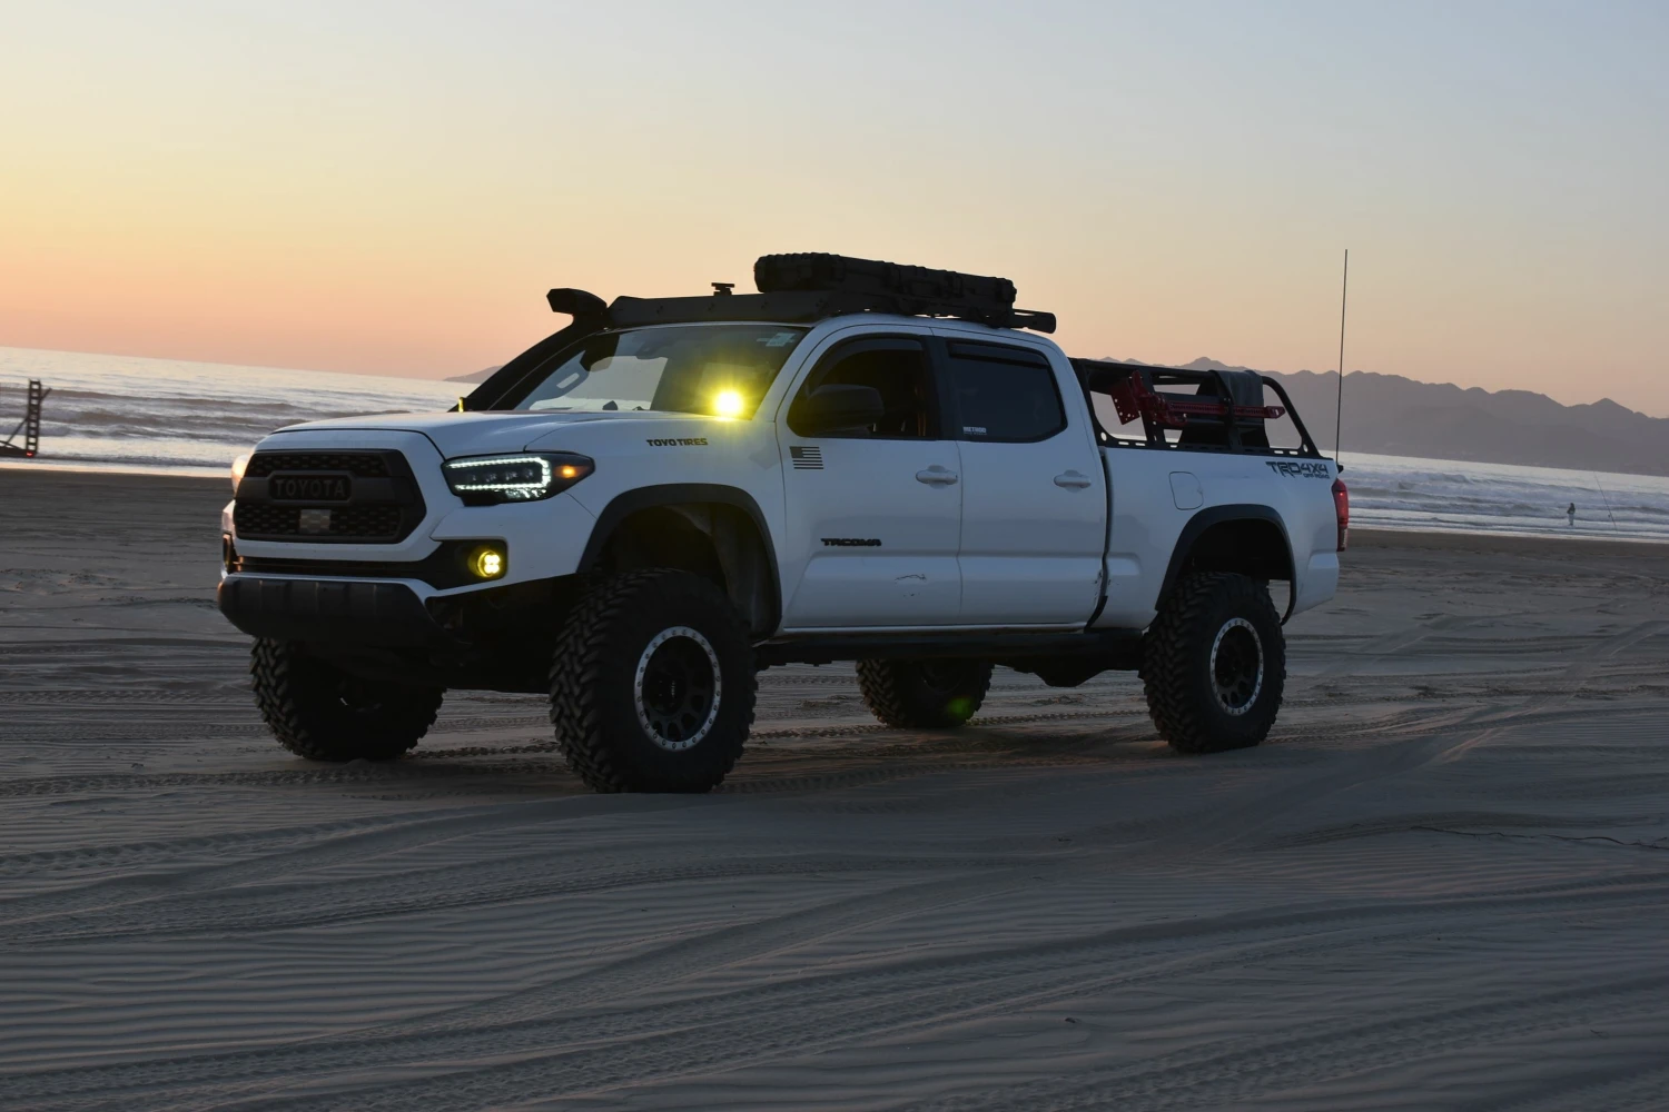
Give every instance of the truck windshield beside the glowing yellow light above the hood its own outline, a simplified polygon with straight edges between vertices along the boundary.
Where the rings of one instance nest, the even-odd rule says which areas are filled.
[[[541,367],[519,410],[753,417],[788,353],[806,335],[788,325],[656,325],[609,332]]]

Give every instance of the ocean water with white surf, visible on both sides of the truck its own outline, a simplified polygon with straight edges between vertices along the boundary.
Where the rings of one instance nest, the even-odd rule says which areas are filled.
[[[0,348],[0,437],[27,378],[52,388],[42,455],[15,467],[225,475],[274,428],[449,408],[469,385]],[[1345,452],[1352,525],[1669,540],[1669,478]],[[5,463],[3,467],[13,467]],[[0,472],[0,488],[5,477]],[[1576,503],[1576,525],[1566,507]]]

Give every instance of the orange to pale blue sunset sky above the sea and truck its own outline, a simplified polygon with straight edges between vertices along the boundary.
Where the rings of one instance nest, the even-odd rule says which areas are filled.
[[[552,285],[978,273],[1075,355],[1669,415],[1666,3],[0,0],[0,345],[439,377]]]

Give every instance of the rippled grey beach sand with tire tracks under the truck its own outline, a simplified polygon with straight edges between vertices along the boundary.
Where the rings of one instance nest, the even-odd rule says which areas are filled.
[[[1669,548],[1359,532],[1242,754],[774,669],[596,797],[531,697],[277,749],[225,497],[0,472],[3,1109],[1669,1107]]]

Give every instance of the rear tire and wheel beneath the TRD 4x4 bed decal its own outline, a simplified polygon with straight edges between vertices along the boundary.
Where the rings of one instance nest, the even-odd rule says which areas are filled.
[[[1247,664],[1253,650],[1255,679]],[[1185,577],[1142,640],[1142,682],[1153,725],[1177,752],[1262,742],[1287,685],[1287,644],[1268,585],[1227,572]]]

